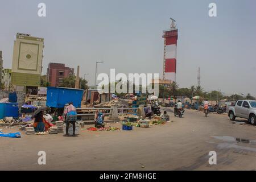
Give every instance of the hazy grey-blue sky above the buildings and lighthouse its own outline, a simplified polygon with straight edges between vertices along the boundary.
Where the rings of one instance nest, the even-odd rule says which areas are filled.
[[[38,16],[46,3],[47,16]],[[217,4],[210,18],[208,5]],[[11,68],[16,32],[45,39],[43,73],[49,62],[65,63],[94,83],[98,73],[163,72],[163,30],[170,17],[179,28],[177,83],[205,90],[256,96],[256,1],[0,0],[0,50],[3,66]]]

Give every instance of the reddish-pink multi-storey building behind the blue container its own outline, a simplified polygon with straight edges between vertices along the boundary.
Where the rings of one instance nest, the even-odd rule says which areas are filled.
[[[74,68],[65,67],[61,63],[49,63],[47,69],[47,80],[51,86],[60,86],[63,78],[74,75]]]

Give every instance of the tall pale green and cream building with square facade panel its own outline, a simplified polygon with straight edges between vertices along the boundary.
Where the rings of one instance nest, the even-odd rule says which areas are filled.
[[[16,91],[37,92],[42,74],[43,48],[43,38],[16,34],[11,73],[11,84]]]

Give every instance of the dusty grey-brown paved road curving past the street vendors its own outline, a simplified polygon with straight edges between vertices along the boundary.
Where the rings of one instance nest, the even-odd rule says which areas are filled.
[[[0,138],[0,170],[256,169],[255,126],[234,124],[227,115],[205,118],[192,110],[175,118],[164,109],[172,122],[149,129],[81,130],[75,138],[24,133],[20,139]],[[38,164],[38,151],[46,151],[45,166]],[[209,165],[209,151],[217,152],[217,165]]]

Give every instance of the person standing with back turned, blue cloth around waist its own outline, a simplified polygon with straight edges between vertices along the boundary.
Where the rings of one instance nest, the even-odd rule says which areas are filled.
[[[65,108],[64,114],[65,114],[65,123],[66,123],[66,134],[64,135],[64,137],[68,136],[68,129],[69,129],[70,123],[72,123],[73,125],[72,136],[75,137],[77,112],[76,112],[76,107],[73,106],[73,102],[69,102],[68,106]]]

